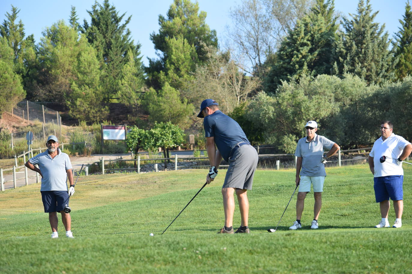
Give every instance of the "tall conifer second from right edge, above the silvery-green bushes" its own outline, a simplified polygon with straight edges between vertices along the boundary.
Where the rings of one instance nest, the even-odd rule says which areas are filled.
[[[382,84],[394,79],[394,59],[388,51],[388,32],[385,24],[375,23],[378,12],[372,13],[369,0],[359,0],[357,14],[343,19],[344,33],[337,48],[339,60],[335,69],[339,75],[352,73],[368,84]]]

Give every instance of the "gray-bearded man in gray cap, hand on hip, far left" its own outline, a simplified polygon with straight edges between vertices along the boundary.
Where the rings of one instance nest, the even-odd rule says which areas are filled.
[[[68,206],[69,196],[72,196],[75,192],[72,164],[69,156],[61,152],[56,136],[49,136],[46,146],[47,150],[29,159],[26,166],[42,176],[40,192],[42,193],[44,212],[49,212],[49,221],[53,232],[52,238],[59,237],[57,233],[57,224],[59,223],[57,212],[61,213],[61,220],[66,228],[66,236],[73,238],[70,214],[63,211],[66,205]],[[40,169],[35,167],[35,164]],[[69,191],[67,191],[67,178],[70,182]]]

